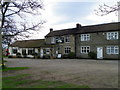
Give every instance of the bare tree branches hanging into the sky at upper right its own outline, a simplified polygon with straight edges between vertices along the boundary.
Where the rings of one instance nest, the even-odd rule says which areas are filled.
[[[120,2],[118,2],[113,6],[107,4],[99,5],[99,8],[95,10],[95,13],[97,15],[104,16],[112,12],[118,12],[119,10],[120,10]]]

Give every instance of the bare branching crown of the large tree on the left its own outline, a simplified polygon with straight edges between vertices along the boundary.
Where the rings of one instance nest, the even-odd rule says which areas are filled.
[[[30,15],[34,18],[41,15],[40,10],[44,8],[40,0],[0,0],[0,9],[0,38],[7,41],[10,40],[10,36],[12,38],[28,37],[25,33],[37,31],[45,23],[43,20],[28,22],[26,19]]]

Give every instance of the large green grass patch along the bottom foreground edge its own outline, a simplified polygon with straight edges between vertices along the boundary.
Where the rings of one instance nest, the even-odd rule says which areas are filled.
[[[30,77],[28,74],[3,77],[3,88],[89,88],[62,81],[32,80]]]

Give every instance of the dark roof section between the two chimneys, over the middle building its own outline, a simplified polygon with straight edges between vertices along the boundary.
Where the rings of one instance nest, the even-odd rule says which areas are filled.
[[[75,30],[76,28],[55,30],[55,31],[49,32],[45,37],[71,35],[71,34],[75,34]]]

